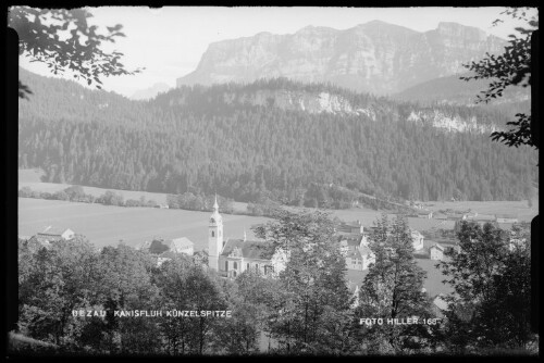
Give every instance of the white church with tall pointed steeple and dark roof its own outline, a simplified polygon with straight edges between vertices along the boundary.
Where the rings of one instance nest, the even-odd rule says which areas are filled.
[[[263,276],[275,277],[285,268],[287,253],[271,242],[232,239],[223,236],[223,218],[219,214],[218,199],[213,204],[208,228],[208,267],[223,277],[236,277],[251,270]]]

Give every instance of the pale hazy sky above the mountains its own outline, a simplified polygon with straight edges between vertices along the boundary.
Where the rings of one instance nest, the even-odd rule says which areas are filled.
[[[504,8],[214,8],[181,7],[149,9],[141,7],[103,7],[88,9],[98,26],[123,25],[126,38],[119,38],[111,49],[123,52],[127,68],[146,67],[134,76],[103,78],[103,89],[131,96],[138,89],[165,83],[193,72],[210,42],[248,37],[260,32],[293,34],[308,26],[347,29],[373,20],[401,25],[413,30],[436,28],[440,22],[475,26],[504,39],[521,23],[511,21],[498,26],[492,22]],[[505,21],[507,21],[506,17]],[[38,63],[21,59],[32,72],[50,75]],[[66,77],[73,77],[66,74]]]

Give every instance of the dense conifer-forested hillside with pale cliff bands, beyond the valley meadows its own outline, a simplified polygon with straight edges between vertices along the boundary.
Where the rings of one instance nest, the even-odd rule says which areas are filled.
[[[21,77],[35,93],[20,103],[20,165],[44,168],[46,182],[347,208],[357,199],[349,190],[519,200],[536,180],[536,152],[492,142],[487,130],[507,118],[480,109],[285,78],[183,87],[143,102]]]

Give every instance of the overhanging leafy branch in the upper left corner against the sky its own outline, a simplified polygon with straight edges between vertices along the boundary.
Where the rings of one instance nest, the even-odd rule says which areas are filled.
[[[100,77],[132,75],[140,68],[126,71],[120,62],[123,53],[102,50],[101,45],[115,42],[124,37],[122,25],[107,26],[107,32],[89,26],[87,18],[92,15],[84,9],[35,9],[12,7],[8,24],[20,39],[20,53],[32,57],[33,62],[47,64],[53,74],[70,70],[74,78],[82,78],[88,85],[102,84]],[[32,93],[20,80],[20,97]]]

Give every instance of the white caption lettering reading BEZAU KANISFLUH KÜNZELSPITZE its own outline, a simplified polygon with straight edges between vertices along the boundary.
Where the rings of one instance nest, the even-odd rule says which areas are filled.
[[[72,316],[106,317],[107,310],[72,310]],[[119,317],[232,317],[231,310],[113,310]]]

